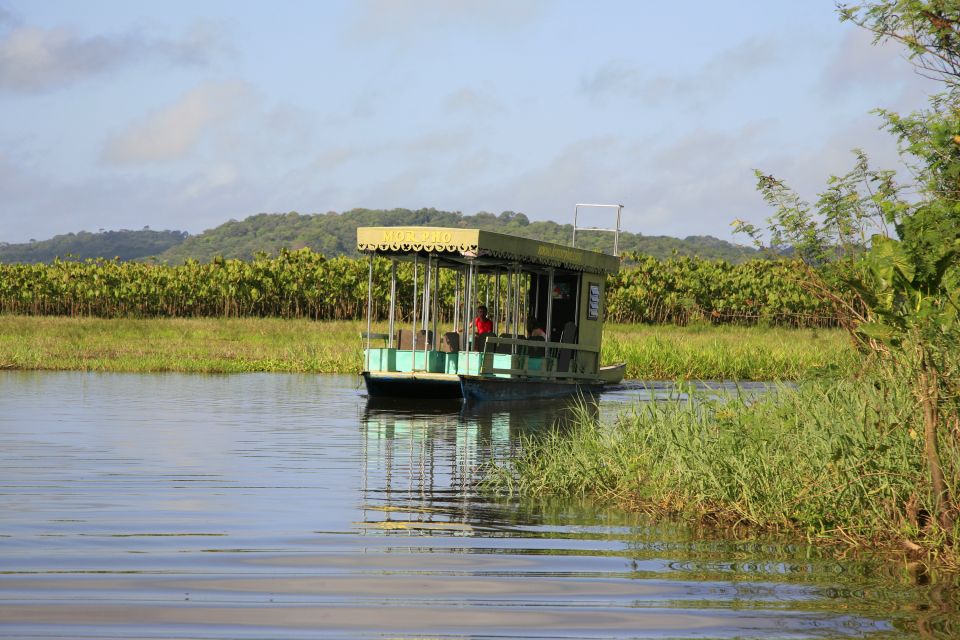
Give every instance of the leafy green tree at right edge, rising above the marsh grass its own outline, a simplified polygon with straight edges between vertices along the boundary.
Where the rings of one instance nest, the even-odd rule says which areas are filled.
[[[878,0],[839,13],[875,42],[902,43],[917,71],[942,84],[923,110],[876,112],[916,176],[916,197],[903,197],[894,174],[871,169],[858,151],[854,168],[831,178],[813,205],[758,172],[774,214],[765,228],[736,224],[761,244],[795,251],[807,288],[834,304],[864,349],[910,376],[923,412],[931,515],[950,529],[958,461],[945,463],[940,451],[960,433],[960,2]],[[827,262],[841,265],[832,278],[819,268]]]

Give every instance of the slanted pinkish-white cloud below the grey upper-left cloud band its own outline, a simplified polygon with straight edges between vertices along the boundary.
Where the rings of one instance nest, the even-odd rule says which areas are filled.
[[[206,134],[236,116],[251,95],[241,82],[202,84],[111,137],[101,159],[111,165],[179,160]]]

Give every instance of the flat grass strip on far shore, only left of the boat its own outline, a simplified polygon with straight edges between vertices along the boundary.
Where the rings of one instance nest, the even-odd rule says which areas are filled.
[[[0,316],[0,368],[340,373],[361,368],[363,323],[272,318]]]

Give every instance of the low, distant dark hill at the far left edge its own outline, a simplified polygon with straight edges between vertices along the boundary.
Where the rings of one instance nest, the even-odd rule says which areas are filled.
[[[185,231],[80,231],[39,242],[0,243],[0,262],[50,262],[57,257],[137,260],[167,251],[186,238]]]

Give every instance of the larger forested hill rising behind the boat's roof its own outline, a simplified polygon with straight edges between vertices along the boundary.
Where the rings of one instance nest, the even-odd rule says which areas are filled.
[[[258,251],[276,253],[284,247],[310,247],[328,257],[355,256],[357,227],[391,225],[479,228],[557,244],[569,244],[573,232],[570,224],[531,222],[526,215],[512,211],[499,215],[481,212],[468,216],[436,209],[352,209],[344,213],[311,215],[297,212],[261,213],[241,221],[231,220],[201,234],[190,236],[157,257],[163,262],[173,264],[188,258],[208,262],[216,256],[250,259]],[[610,251],[613,248],[612,234],[583,232],[577,238],[577,246]],[[637,252],[657,258],[668,258],[674,253],[697,255],[733,263],[743,262],[756,254],[752,248],[712,236],[688,236],[680,239],[629,232],[620,233],[620,252]]]

